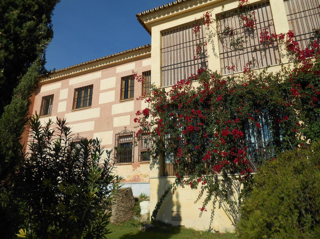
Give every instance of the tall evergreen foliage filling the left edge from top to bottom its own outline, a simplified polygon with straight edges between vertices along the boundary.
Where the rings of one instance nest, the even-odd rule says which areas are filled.
[[[28,122],[29,98],[44,69],[53,37],[51,16],[59,0],[0,1],[0,231],[12,238],[23,211],[13,193],[23,157],[21,135]]]

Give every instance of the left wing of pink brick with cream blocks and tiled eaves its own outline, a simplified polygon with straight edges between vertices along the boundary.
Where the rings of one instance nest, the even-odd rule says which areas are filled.
[[[145,45],[57,70],[40,80],[30,106],[41,122],[65,118],[75,142],[98,138],[105,149],[124,148],[116,170],[135,196],[150,193],[149,161],[141,157],[143,147],[132,147],[135,112],[146,108],[135,99],[148,88],[132,75],[134,71],[150,79],[150,54],[151,46]]]

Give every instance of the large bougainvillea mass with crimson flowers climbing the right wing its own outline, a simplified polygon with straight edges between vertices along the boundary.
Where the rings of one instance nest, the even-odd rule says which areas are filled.
[[[236,226],[255,167],[319,139],[319,63],[228,76],[199,69],[168,92],[153,87],[148,108],[136,113],[137,142],[150,132],[152,160],[171,160],[176,182],[199,189],[200,212],[216,201]]]

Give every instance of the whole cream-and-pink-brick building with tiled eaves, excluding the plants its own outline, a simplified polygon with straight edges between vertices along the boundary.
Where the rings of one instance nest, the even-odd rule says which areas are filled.
[[[279,50],[276,40],[267,35],[292,30],[296,41],[306,48],[309,39],[320,29],[319,4],[319,0],[251,0],[250,3],[178,0],[141,12],[136,17],[151,35],[151,46],[54,72],[41,80],[32,97],[30,112],[40,112],[44,122],[56,116],[64,117],[77,137],[98,137],[107,149],[114,146],[127,149],[116,159],[119,160],[117,171],[124,176],[126,186],[134,189],[134,195],[140,192],[150,195],[152,210],[175,177],[173,172],[164,173],[164,159],[150,167],[148,158],[143,157],[144,146],[130,144],[135,135],[135,112],[146,107],[135,98],[148,91],[144,85],[132,81],[132,71],[166,90],[196,73],[198,68],[218,70],[224,75],[230,74],[231,68],[241,73],[248,64],[254,69],[271,66],[271,71],[277,71],[288,58]],[[200,26],[195,38],[195,19],[203,18],[206,12],[216,21],[211,23],[212,28]],[[250,35],[243,26],[249,27]],[[261,36],[267,37],[267,42]],[[201,56],[194,58],[199,39],[205,44]],[[230,50],[226,45],[237,49]],[[157,218],[200,230],[209,227],[218,231],[234,230],[218,206],[212,220],[210,207],[198,218],[202,202],[195,204],[196,197],[197,191],[178,188],[174,195],[167,196]]]

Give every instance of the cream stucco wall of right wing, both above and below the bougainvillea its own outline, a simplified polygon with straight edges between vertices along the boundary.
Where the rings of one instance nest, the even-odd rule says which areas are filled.
[[[260,2],[259,0],[250,0],[250,4]],[[270,0],[271,12],[273,15],[274,27],[276,34],[287,33],[289,25],[287,22],[287,16],[284,8],[284,2],[281,0]],[[194,4],[194,5],[193,5]],[[177,4],[171,8],[161,10],[159,12],[151,13],[147,16],[141,17],[145,20],[146,25],[151,29],[151,70],[152,78],[151,81],[156,86],[161,86],[162,72],[161,72],[161,32],[177,27],[188,22],[193,22],[195,19],[199,19],[203,16],[206,11],[212,11],[212,16],[226,12],[232,9],[236,9],[238,1],[188,1],[186,3]],[[215,22],[212,23],[212,27],[207,30],[208,41],[208,67],[212,71],[220,72],[221,64],[219,57],[219,45],[218,37],[215,34]],[[212,37],[213,36],[213,37]],[[280,48],[281,50],[281,48]],[[283,50],[283,49],[282,49]],[[282,51],[282,53],[285,53]],[[288,59],[285,54],[281,55],[281,63],[288,63]],[[281,65],[275,65],[268,69],[268,71],[279,71]],[[259,69],[258,69],[259,71]],[[194,84],[196,86],[196,83]],[[166,87],[165,90],[169,91],[171,87]],[[159,162],[162,162],[162,158],[159,158]],[[161,163],[157,162],[150,171],[150,208],[153,209],[158,202],[158,199],[162,196],[164,190],[170,183],[174,181],[174,177],[161,177],[160,172],[162,170]],[[174,195],[167,196],[164,200],[163,205],[158,213],[157,219],[170,222],[172,224],[184,225],[185,227],[193,227],[199,230],[207,230],[209,226],[220,232],[233,231],[234,227],[231,221],[226,216],[222,209],[218,209],[216,205],[213,220],[211,221],[211,209],[212,204],[208,204],[207,212],[203,212],[201,218],[199,218],[200,210],[202,207],[201,202],[194,203],[196,200],[197,190],[192,190],[189,187],[178,187]],[[182,220],[181,222],[171,221],[171,212],[181,211]],[[211,224],[210,224],[211,221]]]

